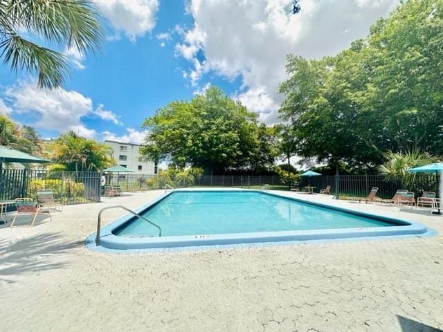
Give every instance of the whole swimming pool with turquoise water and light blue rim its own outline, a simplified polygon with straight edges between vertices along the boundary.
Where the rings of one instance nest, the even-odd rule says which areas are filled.
[[[114,249],[307,241],[422,234],[423,225],[334,208],[257,190],[181,190],[103,228],[100,246]]]

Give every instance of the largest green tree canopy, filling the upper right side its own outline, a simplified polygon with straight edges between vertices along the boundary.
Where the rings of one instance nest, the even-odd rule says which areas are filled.
[[[289,55],[280,108],[296,153],[373,169],[386,151],[442,155],[443,0],[408,0],[335,57]]]

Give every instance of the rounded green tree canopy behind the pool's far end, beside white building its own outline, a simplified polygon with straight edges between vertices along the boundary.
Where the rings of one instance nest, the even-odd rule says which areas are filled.
[[[149,132],[143,153],[154,160],[201,167],[206,174],[273,165],[272,129],[214,86],[157,110],[143,127]]]

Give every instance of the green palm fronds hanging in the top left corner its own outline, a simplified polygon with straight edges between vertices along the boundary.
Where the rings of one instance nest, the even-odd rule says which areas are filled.
[[[60,86],[68,73],[66,57],[44,44],[97,50],[102,32],[98,15],[88,0],[0,0],[0,57],[12,71],[38,74],[40,87]]]

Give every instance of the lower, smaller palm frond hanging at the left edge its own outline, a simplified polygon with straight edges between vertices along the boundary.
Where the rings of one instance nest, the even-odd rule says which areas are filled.
[[[60,86],[68,73],[65,57],[18,35],[11,35],[0,42],[0,57],[10,64],[12,71],[26,70],[38,74],[41,87]]]

